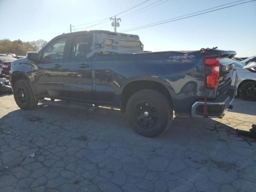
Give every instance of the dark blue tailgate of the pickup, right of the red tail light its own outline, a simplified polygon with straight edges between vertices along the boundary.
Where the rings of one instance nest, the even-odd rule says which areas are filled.
[[[232,83],[234,60],[230,58],[234,57],[235,54],[236,52],[221,51],[217,96],[225,92]]]

